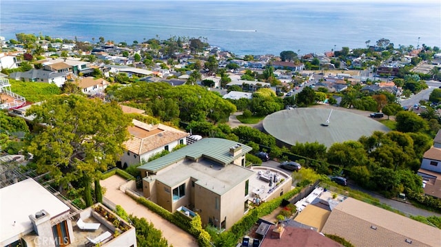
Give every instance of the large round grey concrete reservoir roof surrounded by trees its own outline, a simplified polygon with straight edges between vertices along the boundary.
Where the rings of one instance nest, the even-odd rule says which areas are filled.
[[[296,142],[318,142],[331,147],[335,142],[358,140],[374,131],[390,129],[366,116],[324,108],[297,108],[277,111],[263,120],[263,129],[287,147]],[[327,122],[329,118],[329,122]]]

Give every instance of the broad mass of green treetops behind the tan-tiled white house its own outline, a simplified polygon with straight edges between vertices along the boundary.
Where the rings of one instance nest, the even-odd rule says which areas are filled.
[[[132,83],[127,87],[109,87],[107,94],[175,125],[181,121],[224,122],[236,111],[232,103],[197,85],[172,87],[167,83]]]

